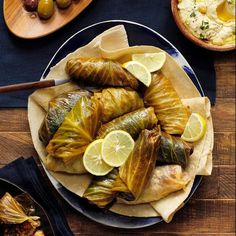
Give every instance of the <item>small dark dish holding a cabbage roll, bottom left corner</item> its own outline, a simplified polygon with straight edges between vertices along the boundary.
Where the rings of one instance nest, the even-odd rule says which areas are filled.
[[[27,192],[0,178],[0,235],[54,236],[45,210]]]

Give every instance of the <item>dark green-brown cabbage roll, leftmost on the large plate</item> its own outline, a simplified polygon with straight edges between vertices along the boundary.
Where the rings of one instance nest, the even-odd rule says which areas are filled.
[[[63,93],[53,98],[48,103],[48,111],[39,129],[39,139],[47,145],[52,139],[57,129],[63,122],[65,116],[82,96],[89,96],[90,92],[86,90],[76,90],[69,93]]]

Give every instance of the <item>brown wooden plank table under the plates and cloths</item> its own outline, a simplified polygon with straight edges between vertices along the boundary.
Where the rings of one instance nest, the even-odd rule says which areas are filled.
[[[59,198],[75,235],[235,235],[235,52],[216,53],[217,98],[212,108],[215,144],[212,175],[204,177],[188,204],[170,224],[140,230],[104,227]],[[0,167],[34,156],[26,109],[0,110]]]

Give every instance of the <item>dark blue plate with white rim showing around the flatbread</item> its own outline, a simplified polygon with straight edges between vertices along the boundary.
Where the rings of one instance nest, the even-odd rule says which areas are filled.
[[[71,36],[54,54],[51,61],[49,62],[48,66],[46,67],[45,71],[42,74],[42,78],[45,78],[52,66],[57,64],[61,59],[63,59],[67,54],[75,51],[77,48],[82,47],[89,43],[93,38],[97,35],[101,34],[103,31],[119,25],[123,24],[128,34],[129,44],[133,45],[152,45],[163,49],[164,51],[168,52],[176,62],[184,69],[184,71],[188,74],[190,79],[195,84],[196,88],[199,90],[202,96],[204,96],[203,90],[201,85],[193,72],[192,68],[183,57],[183,55],[178,51],[176,47],[174,47],[167,39],[165,39],[162,35],[157,33],[156,31],[130,21],[124,20],[110,20],[110,21],[103,21],[91,26],[88,26],[81,31],[75,33]],[[119,215],[112,212],[104,212],[103,210],[92,206],[84,199],[78,197],[77,195],[71,193],[67,189],[65,189],[58,181],[56,181],[49,172],[45,169],[48,177],[50,178],[52,184],[58,191],[58,193],[77,211],[82,213],[83,215],[87,216],[88,218],[112,227],[117,228],[127,228],[127,229],[134,229],[134,228],[143,228],[147,227],[162,221],[161,217],[128,217]],[[186,199],[185,202],[189,200],[192,194],[197,189],[198,185],[201,182],[201,177],[197,176],[195,178],[192,190]]]

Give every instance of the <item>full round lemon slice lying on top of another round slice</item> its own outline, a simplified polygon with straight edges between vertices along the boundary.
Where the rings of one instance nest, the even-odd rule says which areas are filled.
[[[102,143],[102,158],[110,166],[118,167],[125,163],[134,148],[134,140],[123,130],[110,132]]]

